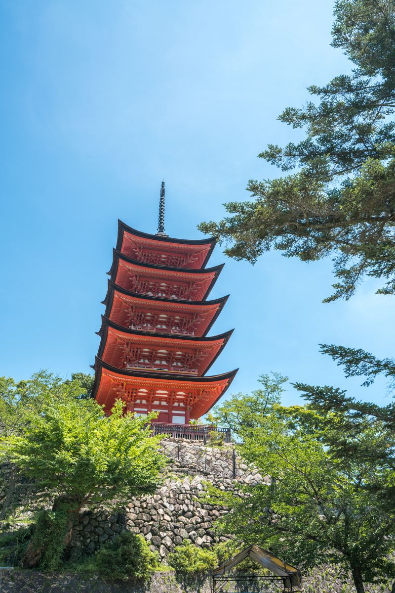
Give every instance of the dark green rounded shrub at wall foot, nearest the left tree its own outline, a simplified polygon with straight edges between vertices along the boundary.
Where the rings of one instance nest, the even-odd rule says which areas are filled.
[[[94,556],[99,575],[108,581],[149,581],[158,566],[142,535],[123,531],[111,543],[106,543]]]

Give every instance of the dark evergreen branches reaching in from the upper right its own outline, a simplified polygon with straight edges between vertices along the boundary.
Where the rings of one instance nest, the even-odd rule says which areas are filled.
[[[339,282],[325,299],[348,299],[365,276],[395,293],[395,2],[338,0],[334,47],[354,63],[301,109],[279,117],[306,138],[259,154],[297,173],[249,181],[252,200],[225,205],[222,221],[204,222],[235,259],[256,259],[271,248],[313,261],[332,256]]]

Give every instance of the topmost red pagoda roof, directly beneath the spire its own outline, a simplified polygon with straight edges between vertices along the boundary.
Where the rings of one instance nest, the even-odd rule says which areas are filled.
[[[215,237],[205,239],[176,239],[160,234],[149,234],[137,231],[124,222],[118,220],[117,250],[129,257],[137,257],[146,260],[143,251],[167,253],[166,260],[178,260],[178,256],[185,254],[190,267],[204,267],[216,245]],[[178,254],[178,256],[177,256]],[[193,254],[193,256],[192,256]],[[152,255],[152,253],[151,253]],[[184,258],[181,257],[181,263]],[[149,261],[149,259],[147,259]],[[159,260],[160,261],[160,260]],[[181,265],[181,264],[180,264]]]

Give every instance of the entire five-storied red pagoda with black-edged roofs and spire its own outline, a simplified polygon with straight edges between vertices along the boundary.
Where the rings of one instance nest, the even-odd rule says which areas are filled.
[[[190,420],[210,410],[237,372],[206,375],[233,331],[207,337],[227,300],[206,300],[223,264],[205,267],[213,238],[168,237],[164,215],[162,181],[156,235],[118,221],[92,396],[107,413],[121,398],[136,414],[158,412],[156,432],[199,438]]]

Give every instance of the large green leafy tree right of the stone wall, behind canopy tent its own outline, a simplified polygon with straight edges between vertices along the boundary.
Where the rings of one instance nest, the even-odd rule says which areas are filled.
[[[230,511],[219,519],[222,533],[269,547],[304,568],[336,565],[345,582],[351,572],[357,593],[364,593],[365,584],[395,576],[395,509],[383,499],[394,484],[394,432],[362,416],[354,431],[352,412],[336,404],[326,411],[311,401],[275,404],[240,428],[240,454],[271,476],[271,485],[243,486],[239,497],[211,488],[211,502]],[[386,449],[390,463],[376,454],[340,451],[339,436],[347,427],[347,447]]]

